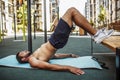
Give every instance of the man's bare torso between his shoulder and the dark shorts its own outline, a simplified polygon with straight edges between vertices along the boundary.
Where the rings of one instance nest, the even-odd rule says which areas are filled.
[[[38,60],[42,61],[49,61],[49,59],[54,55],[56,52],[56,49],[49,43],[44,43],[41,45],[40,48],[38,48],[32,56],[35,57]]]

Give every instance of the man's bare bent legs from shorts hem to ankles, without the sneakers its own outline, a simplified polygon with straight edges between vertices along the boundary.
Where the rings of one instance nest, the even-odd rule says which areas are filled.
[[[86,20],[86,18],[75,8],[70,8],[63,15],[62,19],[68,23],[69,26],[72,27],[73,22],[83,28],[85,31],[94,35],[97,31],[92,28],[90,23]]]

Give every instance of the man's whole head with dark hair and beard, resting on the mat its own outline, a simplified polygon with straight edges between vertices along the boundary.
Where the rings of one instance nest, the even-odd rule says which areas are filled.
[[[30,55],[29,51],[27,50],[21,51],[16,54],[16,59],[19,63],[27,63],[29,55]]]

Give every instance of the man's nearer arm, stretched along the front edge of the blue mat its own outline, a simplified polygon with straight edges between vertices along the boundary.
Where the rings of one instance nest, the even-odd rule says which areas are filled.
[[[80,68],[65,66],[65,65],[57,65],[57,64],[49,64],[48,62],[37,60],[34,57],[29,59],[29,63],[34,68],[45,69],[45,70],[56,70],[56,71],[69,71],[76,75],[84,74]]]

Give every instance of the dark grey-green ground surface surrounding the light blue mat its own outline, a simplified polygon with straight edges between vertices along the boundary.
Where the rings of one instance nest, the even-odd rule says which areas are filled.
[[[32,39],[33,51],[44,43],[42,34],[37,34],[36,39]],[[22,41],[21,35],[8,36],[0,43],[0,58],[16,54],[18,51],[28,47],[27,40]],[[80,56],[93,55],[91,53],[91,39],[87,37],[70,37],[67,45],[57,51],[58,53],[75,53]],[[111,50],[94,43],[93,52],[111,53]],[[19,68],[0,67],[0,79],[2,80],[115,80],[115,56],[114,55],[93,55],[101,62],[105,62],[109,69],[103,70],[84,69],[86,74],[76,76],[68,72],[54,72],[46,70],[28,70]],[[48,75],[49,74],[49,75]],[[22,76],[22,77],[20,77]],[[59,77],[59,78],[58,78]]]

